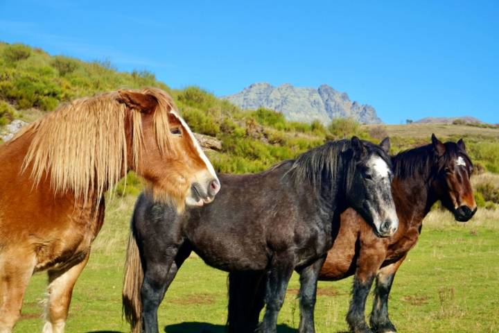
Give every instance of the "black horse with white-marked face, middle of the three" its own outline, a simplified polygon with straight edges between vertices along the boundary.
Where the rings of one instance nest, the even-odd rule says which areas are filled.
[[[222,191],[183,214],[142,194],[132,218],[123,311],[132,332],[156,333],[157,309],[191,251],[224,271],[265,277],[267,311],[259,329],[276,332],[292,271],[301,273],[303,325],[313,330],[317,274],[333,245],[340,212],[354,207],[380,236],[398,225],[387,150],[329,142],[253,175],[219,175]]]

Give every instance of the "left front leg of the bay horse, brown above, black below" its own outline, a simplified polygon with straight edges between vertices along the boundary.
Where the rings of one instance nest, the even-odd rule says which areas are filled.
[[[357,270],[353,277],[352,296],[347,314],[347,322],[351,332],[371,333],[371,329],[365,321],[365,303],[371,289],[376,273],[383,264],[386,252],[376,242],[368,246],[364,244],[360,248],[357,260]]]

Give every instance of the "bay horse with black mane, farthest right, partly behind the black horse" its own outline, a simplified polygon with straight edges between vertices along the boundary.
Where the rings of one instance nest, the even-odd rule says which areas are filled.
[[[457,221],[468,221],[477,210],[470,176],[473,163],[462,139],[457,143],[432,143],[392,157],[392,196],[399,229],[379,238],[354,210],[341,215],[333,247],[319,273],[319,280],[336,281],[355,275],[347,314],[351,332],[396,332],[388,318],[388,296],[394,276],[414,247],[423,219],[438,200]],[[371,284],[374,305],[371,328],[365,321],[365,302]],[[229,332],[254,332],[264,306],[265,285],[248,273],[229,273]]]

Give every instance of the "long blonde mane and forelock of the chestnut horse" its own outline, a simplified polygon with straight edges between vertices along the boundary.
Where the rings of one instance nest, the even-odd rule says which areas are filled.
[[[166,92],[157,88],[137,90],[158,101],[153,115],[154,135],[159,151],[170,153],[168,112],[175,106]],[[22,171],[38,184],[50,175],[56,192],[73,191],[76,199],[100,200],[107,188],[116,185],[128,171],[125,121],[130,119],[132,159],[139,161],[143,142],[141,112],[121,103],[119,92],[77,99],[31,123],[22,133],[32,136]],[[129,117],[129,118],[127,118]]]

